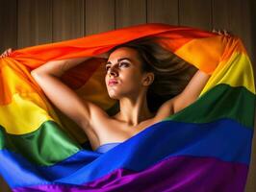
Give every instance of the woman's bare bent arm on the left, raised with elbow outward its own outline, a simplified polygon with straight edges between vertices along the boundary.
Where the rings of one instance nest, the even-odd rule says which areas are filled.
[[[59,79],[66,70],[89,58],[53,60],[31,71],[31,75],[50,101],[65,115],[89,133],[94,121],[108,118],[107,113],[96,105],[82,100],[75,91]]]

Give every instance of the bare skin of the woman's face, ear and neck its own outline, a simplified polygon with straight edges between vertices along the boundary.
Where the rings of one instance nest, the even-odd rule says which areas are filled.
[[[118,62],[118,59],[124,60]],[[136,50],[126,47],[115,50],[106,64],[106,71],[108,93],[111,98],[119,100],[120,105],[115,119],[137,126],[141,121],[154,116],[146,101],[146,92],[153,83],[154,74],[142,72]],[[109,85],[109,81],[113,79],[117,84]]]

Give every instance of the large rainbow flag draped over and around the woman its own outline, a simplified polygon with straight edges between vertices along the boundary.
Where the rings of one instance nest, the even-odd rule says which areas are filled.
[[[62,80],[104,110],[115,106],[105,59],[143,36],[211,74],[199,98],[105,154],[45,97],[30,71],[49,60],[91,57]],[[55,90],[52,90],[55,91]],[[0,59],[0,173],[13,191],[243,191],[251,155],[255,87],[243,43],[189,27],[149,23],[16,50]]]

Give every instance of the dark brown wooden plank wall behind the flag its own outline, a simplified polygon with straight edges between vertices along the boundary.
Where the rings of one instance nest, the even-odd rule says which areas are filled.
[[[241,36],[255,64],[255,11],[253,0],[0,0],[0,52],[161,22],[226,29]],[[253,152],[247,192],[256,191]],[[0,190],[7,191],[3,187],[1,180]]]

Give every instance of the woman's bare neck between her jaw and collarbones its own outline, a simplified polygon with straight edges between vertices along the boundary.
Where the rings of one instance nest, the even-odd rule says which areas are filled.
[[[115,115],[118,120],[126,122],[130,126],[137,126],[142,121],[152,118],[154,114],[147,106],[146,93],[132,98],[124,97],[119,100],[120,111]]]

